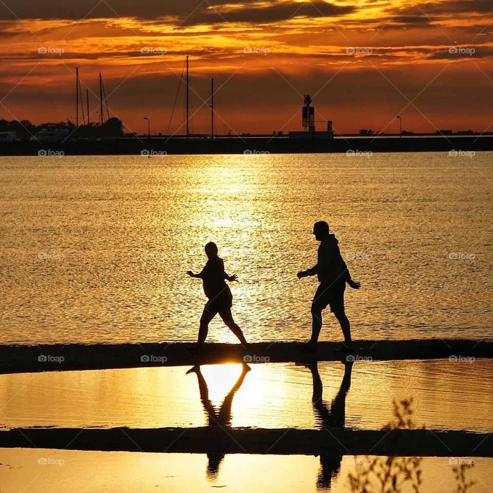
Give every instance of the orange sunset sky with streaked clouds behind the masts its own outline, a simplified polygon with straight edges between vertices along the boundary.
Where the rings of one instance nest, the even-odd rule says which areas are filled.
[[[185,55],[191,131],[301,129],[303,95],[338,132],[493,130],[493,2],[0,0],[0,118],[96,113],[103,73],[126,131],[167,132]],[[182,84],[170,132],[184,131]],[[319,129],[325,124],[319,123]]]

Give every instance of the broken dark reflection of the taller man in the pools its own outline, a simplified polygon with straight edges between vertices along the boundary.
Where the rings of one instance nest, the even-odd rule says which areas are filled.
[[[323,386],[318,373],[317,363],[307,365],[312,372],[313,378],[313,396],[312,405],[315,413],[317,425],[321,428],[344,428],[346,424],[346,395],[351,386],[351,371],[353,362],[344,363],[344,377],[340,384],[339,391],[334,397],[330,407],[323,400]],[[320,470],[317,479],[317,490],[330,490],[332,479],[337,477],[340,471],[340,463],[343,456],[333,456],[328,454],[320,455]]]

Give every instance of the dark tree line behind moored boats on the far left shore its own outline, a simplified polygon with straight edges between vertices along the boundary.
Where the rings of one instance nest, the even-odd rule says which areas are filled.
[[[15,132],[21,140],[29,140],[37,132],[46,129],[68,130],[70,139],[99,139],[101,137],[122,137],[123,123],[116,117],[109,118],[101,126],[100,123],[75,126],[71,121],[59,123],[42,123],[34,125],[30,120],[0,120],[0,132]]]

